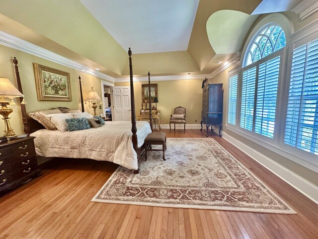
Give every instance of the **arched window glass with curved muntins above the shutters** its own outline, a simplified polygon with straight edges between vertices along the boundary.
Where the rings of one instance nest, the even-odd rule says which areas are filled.
[[[261,28],[251,40],[245,52],[245,64],[248,66],[271,53],[286,46],[284,30],[278,25],[269,25]]]

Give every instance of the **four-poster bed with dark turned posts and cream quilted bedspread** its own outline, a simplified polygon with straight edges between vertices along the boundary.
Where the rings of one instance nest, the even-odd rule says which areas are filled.
[[[150,111],[150,125],[146,121],[136,122],[136,110],[135,110],[135,97],[134,97],[134,84],[133,84],[133,70],[132,70],[132,52],[129,48],[129,70],[130,70],[130,92],[131,92],[131,132],[127,130],[127,123],[129,121],[114,121],[107,122],[105,125],[99,128],[90,128],[85,130],[73,131],[73,132],[61,132],[58,130],[44,129],[44,126],[37,122],[35,119],[28,117],[25,106],[21,105],[22,120],[24,124],[24,131],[27,135],[35,136],[35,147],[37,154],[45,157],[74,157],[74,158],[91,158],[95,160],[105,160],[118,163],[129,169],[133,169],[135,173],[139,173],[138,161],[141,154],[145,151],[144,139],[152,132],[152,111]],[[17,60],[13,59],[16,79],[18,82],[19,90],[22,92],[21,81],[17,66]],[[79,77],[79,84],[80,77]],[[150,95],[150,72],[148,72],[148,84],[149,84],[149,99]],[[80,92],[81,94],[81,92]],[[151,101],[150,101],[151,104]],[[81,106],[83,110],[83,99],[81,95]],[[151,107],[151,106],[150,106]],[[118,124],[122,124],[121,127]],[[147,123],[147,125],[146,125]],[[116,128],[120,135],[116,135]],[[138,129],[138,132],[137,132]],[[107,130],[104,132],[103,130]],[[81,132],[80,132],[81,131]],[[129,131],[129,132],[128,132]],[[107,140],[105,139],[107,134]],[[97,138],[98,135],[100,138]],[[67,140],[65,139],[67,137]],[[129,138],[130,141],[127,139]],[[54,141],[55,140],[55,141]],[[88,141],[85,141],[88,140]],[[60,148],[53,148],[49,143],[54,141],[55,147],[61,144]],[[59,142],[61,141],[61,142]],[[99,143],[101,141],[104,144]],[[126,143],[124,146],[123,141]],[[74,142],[74,144],[71,144]],[[97,142],[97,143],[96,143]],[[108,145],[108,144],[110,145]],[[92,147],[93,145],[94,147]],[[131,146],[130,146],[131,145]],[[38,146],[38,147],[37,147]],[[63,148],[64,147],[64,148]],[[96,149],[97,147],[97,149]],[[109,148],[108,148],[109,147]],[[117,147],[117,148],[116,148]],[[134,151],[130,151],[131,149]],[[125,151],[128,148],[127,152]],[[63,151],[64,150],[64,151]],[[117,151],[116,151],[117,150]],[[118,150],[123,150],[118,152]],[[110,155],[109,158],[107,155]],[[119,156],[118,156],[119,155]],[[123,159],[127,157],[128,163]]]

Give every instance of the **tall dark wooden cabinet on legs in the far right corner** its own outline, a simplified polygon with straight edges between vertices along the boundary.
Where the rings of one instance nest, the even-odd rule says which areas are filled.
[[[202,124],[206,124],[207,137],[209,136],[209,127],[211,133],[212,125],[219,126],[219,136],[222,137],[222,116],[223,116],[223,84],[206,84],[203,88],[202,98]]]

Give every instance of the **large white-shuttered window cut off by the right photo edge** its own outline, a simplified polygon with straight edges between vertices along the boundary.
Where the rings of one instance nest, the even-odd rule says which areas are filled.
[[[293,51],[284,142],[318,154],[318,39]]]

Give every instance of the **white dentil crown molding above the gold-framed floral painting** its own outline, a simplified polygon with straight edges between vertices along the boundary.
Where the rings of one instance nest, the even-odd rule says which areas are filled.
[[[37,45],[34,45],[30,42],[27,42],[25,40],[22,40],[16,36],[10,35],[4,31],[0,31],[0,44],[17,49],[26,53],[29,53],[31,55],[35,55],[38,57],[41,57],[43,59],[56,62],[58,64],[73,68],[75,70],[78,70],[80,72],[99,77],[101,79],[115,82],[115,78],[108,76],[106,74],[103,74],[99,71],[96,71],[95,69],[89,68],[87,66],[84,66],[82,64],[79,64],[75,61],[72,61],[66,57],[60,56],[52,51],[46,50],[42,47],[39,47]]]

